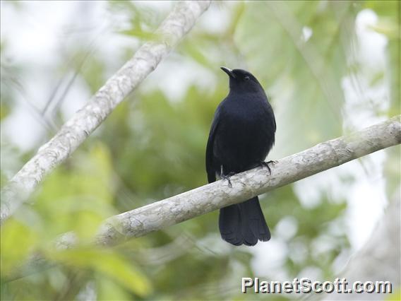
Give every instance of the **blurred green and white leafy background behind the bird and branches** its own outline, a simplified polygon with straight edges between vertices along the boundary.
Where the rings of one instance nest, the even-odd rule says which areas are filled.
[[[1,186],[173,5],[1,2]],[[334,279],[399,193],[399,147],[261,196],[273,238],[253,248],[222,242],[217,212],[113,248],[85,242],[104,218],[205,184],[205,143],[228,88],[219,66],[249,69],[265,87],[272,159],[400,114],[397,11],[397,1],[213,3],[1,226],[1,299],[287,300],[242,295],[241,277]],[[82,243],[56,248],[71,230]],[[24,264],[37,254],[48,264]]]

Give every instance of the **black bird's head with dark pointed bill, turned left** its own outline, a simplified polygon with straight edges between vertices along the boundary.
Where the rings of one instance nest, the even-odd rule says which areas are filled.
[[[220,67],[229,76],[230,90],[237,90],[242,92],[258,92],[263,90],[261,84],[258,82],[252,73],[243,69],[228,69],[227,67]]]

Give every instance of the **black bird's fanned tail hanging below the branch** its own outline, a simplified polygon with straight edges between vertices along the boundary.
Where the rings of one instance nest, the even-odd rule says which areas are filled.
[[[219,228],[222,239],[239,246],[254,246],[258,240],[270,240],[270,230],[265,221],[258,196],[244,203],[220,209]]]

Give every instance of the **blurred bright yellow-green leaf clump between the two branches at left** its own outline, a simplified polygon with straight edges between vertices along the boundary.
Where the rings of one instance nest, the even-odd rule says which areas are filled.
[[[46,222],[42,235],[52,240],[73,230],[90,240],[102,220],[112,216],[113,167],[107,147],[93,143],[88,153],[74,156],[73,165],[57,168],[37,194],[35,208]]]

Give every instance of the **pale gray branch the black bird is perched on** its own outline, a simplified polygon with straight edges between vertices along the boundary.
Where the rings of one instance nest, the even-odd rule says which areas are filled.
[[[231,178],[232,187],[225,180],[217,181],[121,213],[106,220],[96,242],[116,244],[130,237],[140,237],[400,144],[400,117],[398,115],[354,134],[320,143],[306,151],[283,158],[271,167],[271,175],[266,168],[258,167],[234,175]],[[68,247],[73,241],[74,236],[69,233],[61,237],[59,242]]]

